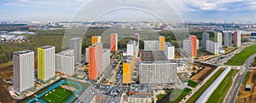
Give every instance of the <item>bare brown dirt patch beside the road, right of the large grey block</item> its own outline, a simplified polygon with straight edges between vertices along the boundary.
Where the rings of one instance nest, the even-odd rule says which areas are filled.
[[[195,64],[195,66],[203,67],[201,65]],[[205,66],[204,69],[202,69],[200,72],[197,72],[193,77],[190,77],[190,79],[196,83],[201,83],[207,76],[209,76],[215,68]]]

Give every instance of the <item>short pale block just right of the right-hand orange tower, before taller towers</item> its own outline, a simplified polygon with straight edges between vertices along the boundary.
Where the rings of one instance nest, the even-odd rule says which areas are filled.
[[[218,54],[218,43],[215,43],[211,40],[207,40],[207,51],[211,52],[212,54]]]

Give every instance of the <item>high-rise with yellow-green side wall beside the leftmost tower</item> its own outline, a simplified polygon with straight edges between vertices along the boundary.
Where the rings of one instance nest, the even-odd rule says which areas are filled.
[[[55,77],[55,47],[38,48],[38,80],[46,83]]]

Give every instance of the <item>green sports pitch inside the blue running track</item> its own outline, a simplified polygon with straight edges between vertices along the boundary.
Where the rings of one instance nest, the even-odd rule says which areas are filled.
[[[56,89],[51,90],[48,94],[44,94],[40,99],[53,103],[62,103],[67,101],[72,95],[73,91],[57,87]]]

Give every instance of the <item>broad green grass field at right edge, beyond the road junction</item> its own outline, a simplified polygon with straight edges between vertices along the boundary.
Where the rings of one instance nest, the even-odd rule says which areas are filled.
[[[241,66],[251,55],[256,54],[256,44],[243,49],[239,54],[233,56],[225,65]]]

